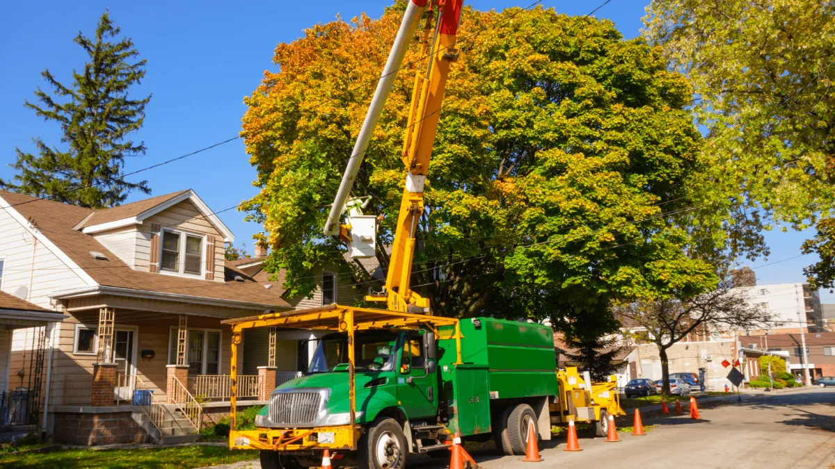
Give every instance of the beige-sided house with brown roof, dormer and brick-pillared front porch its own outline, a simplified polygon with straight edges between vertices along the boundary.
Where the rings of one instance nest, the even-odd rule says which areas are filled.
[[[48,433],[76,444],[193,439],[204,419],[230,411],[221,320],[356,300],[336,270],[316,275],[311,298],[288,298],[283,273],[263,270],[263,250],[225,261],[233,240],[192,190],[103,210],[0,191],[0,290],[65,315],[44,330],[48,345],[33,345],[33,328],[14,330],[8,358],[26,373],[44,348],[52,356],[41,396]],[[240,405],[264,403],[276,382],[304,371],[312,340],[245,336]]]

